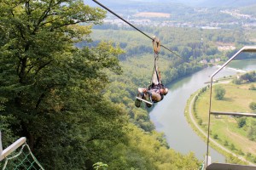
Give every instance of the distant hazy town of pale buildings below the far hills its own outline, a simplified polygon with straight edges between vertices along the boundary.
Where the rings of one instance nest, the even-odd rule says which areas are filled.
[[[197,13],[206,13],[207,8],[196,8]],[[128,20],[133,25],[143,26],[170,26],[170,27],[196,27],[201,29],[222,29],[227,26],[241,26],[243,28],[255,28],[256,17],[249,14],[241,14],[238,9],[225,9],[220,10],[219,13],[230,14],[235,19],[233,22],[209,22],[204,24],[194,22],[178,22],[175,20],[168,20],[171,14],[166,13],[137,13],[134,15],[123,16],[125,20]],[[120,14],[122,15],[122,14]],[[160,18],[161,20],[156,20]],[[163,20],[164,19],[164,20]],[[238,21],[236,21],[238,19]],[[243,21],[241,21],[243,20]],[[109,15],[105,20],[105,23],[116,25],[116,26],[128,26],[124,21],[117,19],[113,15]]]

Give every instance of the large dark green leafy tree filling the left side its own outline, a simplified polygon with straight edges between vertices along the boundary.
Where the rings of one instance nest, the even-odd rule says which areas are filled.
[[[73,45],[90,33],[79,23],[101,23],[106,13],[81,0],[6,0],[0,6],[6,129],[25,136],[46,169],[84,169],[108,159],[102,150],[123,138],[125,118],[102,90],[106,70],[121,72],[122,51],[108,42]]]

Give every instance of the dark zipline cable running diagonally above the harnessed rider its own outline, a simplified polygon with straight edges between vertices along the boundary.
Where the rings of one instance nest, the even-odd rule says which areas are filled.
[[[140,29],[138,29],[136,26],[133,26],[130,22],[128,22],[127,20],[123,19],[122,17],[120,17],[118,14],[115,14],[111,9],[107,8],[106,6],[104,6],[102,3],[97,2],[96,0],[92,0],[94,3],[97,3],[98,5],[100,5],[102,8],[105,8],[106,10],[108,10],[108,12],[110,12],[111,14],[115,15],[116,17],[118,17],[120,20],[123,20],[126,24],[128,24],[129,26],[133,27],[135,30],[141,32],[144,36],[148,37],[149,39],[151,39],[152,41],[154,41],[154,38],[148,36],[148,34],[146,34],[145,32],[141,31]],[[172,54],[175,54],[177,57],[183,59],[180,55],[176,54],[174,51],[172,51],[169,48],[166,48],[164,45],[160,45],[161,47],[165,48],[166,50],[170,51]]]

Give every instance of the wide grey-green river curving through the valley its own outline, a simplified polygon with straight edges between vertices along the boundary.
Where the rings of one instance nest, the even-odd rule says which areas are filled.
[[[218,68],[218,66],[206,68],[172,83],[165,99],[155,105],[150,112],[150,118],[154,122],[156,130],[165,133],[167,143],[172,149],[183,154],[188,154],[192,151],[200,160],[204,160],[204,156],[207,153],[207,144],[192,130],[183,112],[189,96],[198,89],[205,87],[205,82],[210,81],[210,76]],[[215,77],[230,76],[239,71],[252,70],[256,70],[256,59],[232,61]],[[225,157],[212,148],[210,148],[210,156],[212,157],[212,162],[225,162]]]

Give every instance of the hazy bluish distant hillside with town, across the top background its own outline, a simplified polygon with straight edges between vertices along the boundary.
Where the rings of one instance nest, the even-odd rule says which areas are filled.
[[[255,3],[248,1],[241,5],[237,1],[121,1],[108,0],[101,2],[112,9],[125,20],[142,26],[170,26],[170,27],[201,27],[203,29],[239,29],[254,28],[256,14]],[[96,3],[85,2],[96,6]],[[247,6],[254,4],[254,6]],[[160,13],[152,15],[152,13]],[[163,16],[163,17],[160,17]],[[108,13],[108,22],[123,25],[123,22]]]

